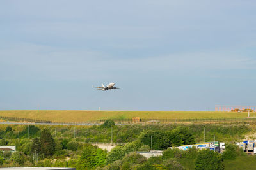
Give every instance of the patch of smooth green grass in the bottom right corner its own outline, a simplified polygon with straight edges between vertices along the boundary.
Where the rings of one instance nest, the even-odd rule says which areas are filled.
[[[241,156],[235,160],[225,160],[225,169],[239,170],[239,169],[256,169],[256,157],[255,156]]]

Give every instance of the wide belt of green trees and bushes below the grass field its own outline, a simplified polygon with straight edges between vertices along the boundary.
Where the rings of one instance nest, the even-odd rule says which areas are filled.
[[[166,150],[169,146],[199,142],[195,134],[204,131],[203,125],[116,126],[113,121],[108,120],[98,127],[93,126],[88,129],[63,126],[58,128],[60,129],[56,132],[55,127],[29,125],[29,129],[24,127],[20,131],[20,136],[24,138],[13,139],[11,134],[16,133],[17,127],[6,126],[5,129],[2,127],[3,137],[8,138],[2,137],[0,145],[15,145],[17,152],[0,152],[0,166],[76,167],[77,169],[223,169],[225,160],[244,155],[244,152],[235,145],[228,145],[223,155],[209,150],[198,151],[195,148],[186,152],[177,149]],[[250,131],[248,127],[241,125],[227,127],[209,125],[205,129],[208,129],[207,133],[219,132],[230,136]],[[28,131],[29,139],[26,138]],[[116,133],[115,140],[120,139],[127,144],[116,146],[108,153],[86,143],[88,138],[98,141],[106,136],[111,138],[111,131]],[[80,133],[82,134],[79,135]],[[136,153],[149,150],[164,150],[163,156],[147,160]]]

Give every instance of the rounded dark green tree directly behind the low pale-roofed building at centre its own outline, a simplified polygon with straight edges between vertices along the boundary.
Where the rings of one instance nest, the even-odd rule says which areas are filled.
[[[152,141],[151,141],[152,139]],[[151,146],[153,150],[163,150],[168,148],[170,141],[163,131],[146,131],[140,136],[140,140],[144,145]]]

